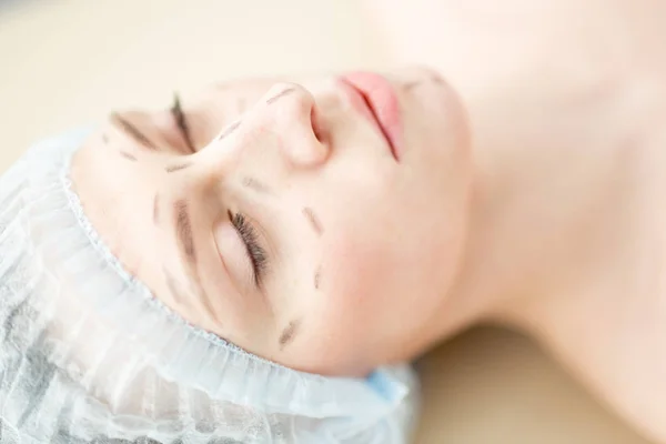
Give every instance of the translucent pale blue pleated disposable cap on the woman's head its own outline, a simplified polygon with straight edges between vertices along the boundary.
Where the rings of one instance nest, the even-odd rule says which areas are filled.
[[[0,178],[0,443],[404,443],[408,365],[324,377],[246,353],[155,300],[70,182],[90,130]]]

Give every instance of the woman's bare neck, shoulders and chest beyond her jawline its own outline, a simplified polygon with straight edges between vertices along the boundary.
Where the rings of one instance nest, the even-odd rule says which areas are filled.
[[[476,200],[448,297],[665,443],[666,3],[365,4],[395,61],[435,65],[471,115]]]

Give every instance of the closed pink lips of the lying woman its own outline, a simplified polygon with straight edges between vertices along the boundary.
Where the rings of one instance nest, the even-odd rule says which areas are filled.
[[[374,72],[352,72],[340,78],[343,85],[354,90],[352,105],[373,122],[386,139],[393,158],[400,161],[402,133],[400,104],[393,87]]]

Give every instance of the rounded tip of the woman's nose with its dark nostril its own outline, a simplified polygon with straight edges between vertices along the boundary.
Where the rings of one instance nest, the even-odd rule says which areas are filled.
[[[278,83],[265,94],[265,114],[280,138],[287,160],[311,168],[325,161],[329,149],[321,140],[322,122],[314,95],[297,83]]]

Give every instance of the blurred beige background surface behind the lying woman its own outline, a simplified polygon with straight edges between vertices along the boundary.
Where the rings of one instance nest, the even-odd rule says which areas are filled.
[[[0,170],[40,138],[167,105],[174,89],[377,69],[385,54],[355,0],[0,0]],[[509,332],[477,329],[420,370],[417,443],[646,443]]]

